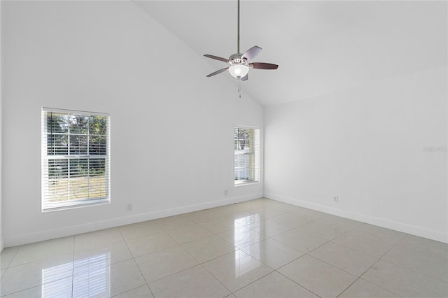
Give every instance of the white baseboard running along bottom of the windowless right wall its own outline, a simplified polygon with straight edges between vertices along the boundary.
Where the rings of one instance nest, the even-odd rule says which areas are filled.
[[[321,204],[310,203],[309,201],[301,201],[299,199],[293,199],[290,197],[283,197],[278,194],[265,193],[267,199],[274,199],[276,201],[281,201],[283,203],[288,203],[295,206],[300,206],[304,208],[309,208],[316,211],[321,211],[329,213],[332,215],[341,216],[342,218],[348,218],[350,220],[358,220],[360,222],[365,222],[370,225],[377,225],[379,227],[385,227],[386,229],[394,229],[398,232],[403,232],[407,234],[412,234],[414,236],[420,236],[423,238],[440,241],[448,243],[448,235],[442,232],[433,231],[430,229],[425,229],[423,227],[417,227],[414,225],[407,225],[402,222],[394,222],[392,220],[386,220],[385,218],[376,218],[374,216],[355,213],[351,211],[345,211],[338,208],[332,208],[329,206],[324,206]]]

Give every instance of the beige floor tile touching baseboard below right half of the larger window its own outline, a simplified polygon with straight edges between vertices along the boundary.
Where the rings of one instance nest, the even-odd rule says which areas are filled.
[[[123,241],[118,227],[111,229],[101,229],[96,232],[78,234],[75,236],[75,250],[81,250],[85,248],[92,248],[95,246],[103,246],[104,244],[110,244]]]

